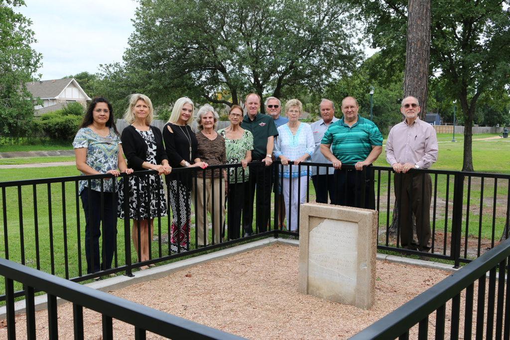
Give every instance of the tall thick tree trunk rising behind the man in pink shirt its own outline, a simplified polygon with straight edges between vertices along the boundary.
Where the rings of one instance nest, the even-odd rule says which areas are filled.
[[[403,97],[418,99],[421,117],[427,108],[428,64],[430,61],[430,0],[409,0],[407,9],[407,41],[405,49],[405,75]],[[396,234],[398,204],[395,198],[390,233]],[[413,217],[413,229],[416,228]]]

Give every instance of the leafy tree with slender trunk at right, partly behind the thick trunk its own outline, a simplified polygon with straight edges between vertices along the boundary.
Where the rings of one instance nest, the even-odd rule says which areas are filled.
[[[372,47],[380,47],[391,70],[403,67],[407,2],[353,3],[361,10]],[[510,3],[503,0],[432,0],[430,67],[444,93],[458,99],[465,121],[464,171],[473,171],[471,142],[476,104],[484,92],[508,91]]]

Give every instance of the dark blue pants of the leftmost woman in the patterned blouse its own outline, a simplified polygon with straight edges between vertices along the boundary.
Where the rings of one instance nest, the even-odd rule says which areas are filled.
[[[81,193],[81,198],[86,223],[85,256],[87,258],[87,273],[110,269],[112,268],[117,235],[117,193],[103,193],[103,202],[101,203],[101,193],[99,191],[91,190],[89,197],[89,190],[85,188]],[[99,257],[101,206],[104,209],[103,251],[101,251],[101,257]],[[101,258],[103,259],[102,263]],[[99,264],[101,265],[99,266]]]

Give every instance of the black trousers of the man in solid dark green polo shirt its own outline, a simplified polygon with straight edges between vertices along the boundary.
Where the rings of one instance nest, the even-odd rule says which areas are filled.
[[[258,160],[253,160],[257,162]],[[258,232],[267,230],[271,214],[271,172],[273,166],[256,166],[250,168],[250,178],[245,187],[243,206],[243,230],[251,235],[253,233],[253,200],[257,189],[257,229]]]

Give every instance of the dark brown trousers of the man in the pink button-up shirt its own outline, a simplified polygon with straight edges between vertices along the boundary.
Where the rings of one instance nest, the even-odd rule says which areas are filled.
[[[432,179],[428,173],[395,174],[395,197],[400,204],[398,225],[403,248],[428,251],[430,249],[430,199]],[[416,236],[413,242],[413,213],[416,217]]]

